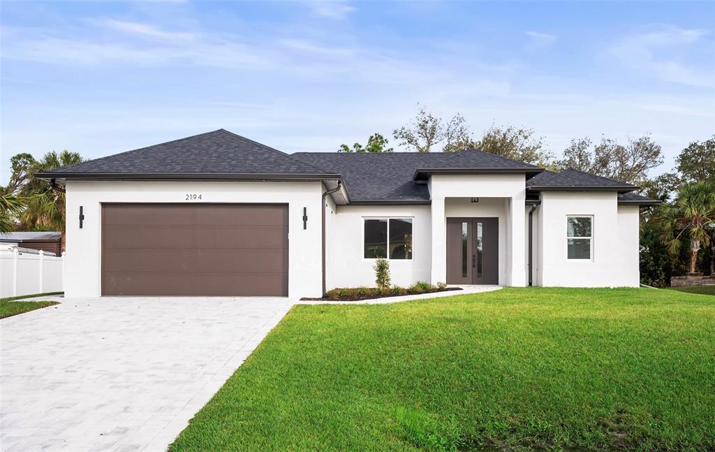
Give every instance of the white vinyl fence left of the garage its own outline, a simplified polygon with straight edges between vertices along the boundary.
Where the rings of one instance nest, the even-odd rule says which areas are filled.
[[[51,253],[50,253],[51,254]],[[64,253],[0,250],[0,298],[64,290]]]

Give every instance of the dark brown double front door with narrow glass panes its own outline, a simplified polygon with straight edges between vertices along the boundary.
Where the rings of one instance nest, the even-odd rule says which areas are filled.
[[[447,283],[499,283],[499,219],[447,219]]]

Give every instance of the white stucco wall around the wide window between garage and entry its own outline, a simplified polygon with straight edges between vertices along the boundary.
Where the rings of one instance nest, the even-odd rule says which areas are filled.
[[[403,287],[430,281],[431,224],[428,205],[332,205],[326,211],[326,286],[332,288],[374,287],[374,259],[363,256],[365,218],[413,219],[413,258],[390,260],[392,283]],[[330,231],[334,232],[330,232]]]

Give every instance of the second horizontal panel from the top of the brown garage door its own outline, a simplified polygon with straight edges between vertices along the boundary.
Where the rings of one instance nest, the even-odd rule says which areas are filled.
[[[105,225],[105,248],[244,248],[286,246],[287,226]]]

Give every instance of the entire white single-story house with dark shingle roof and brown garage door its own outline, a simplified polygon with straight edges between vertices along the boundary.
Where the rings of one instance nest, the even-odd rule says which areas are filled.
[[[479,150],[285,154],[224,129],[36,175],[66,190],[66,295],[375,284],[638,286],[635,185]]]

